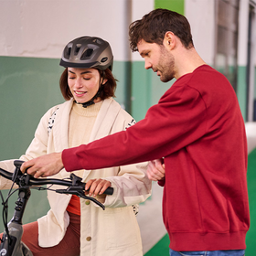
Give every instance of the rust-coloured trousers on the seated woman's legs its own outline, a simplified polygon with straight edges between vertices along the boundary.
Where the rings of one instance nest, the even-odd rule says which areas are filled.
[[[58,245],[48,248],[38,245],[37,221],[23,225],[22,241],[32,251],[34,256],[79,256],[80,255],[80,216],[69,213],[69,227]],[[2,235],[0,237],[2,238]]]

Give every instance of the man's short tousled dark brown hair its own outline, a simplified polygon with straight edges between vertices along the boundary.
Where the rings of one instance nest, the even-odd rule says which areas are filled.
[[[144,39],[147,43],[163,45],[166,32],[173,32],[185,48],[193,48],[190,25],[185,16],[167,9],[155,9],[129,27],[130,48],[137,51],[137,44]]]

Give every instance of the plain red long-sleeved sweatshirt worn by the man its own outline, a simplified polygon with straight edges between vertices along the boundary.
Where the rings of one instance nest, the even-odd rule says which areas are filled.
[[[176,80],[125,132],[62,153],[67,171],[160,157],[170,248],[245,249],[250,217],[244,122],[229,81],[215,69],[203,65]]]

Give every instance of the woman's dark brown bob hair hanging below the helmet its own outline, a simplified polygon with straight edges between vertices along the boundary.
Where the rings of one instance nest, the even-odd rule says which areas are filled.
[[[99,70],[101,78],[107,79],[106,83],[101,85],[102,89],[100,91],[99,97],[101,100],[105,100],[110,97],[115,97],[114,92],[116,89],[116,79],[112,75],[110,69],[105,69],[104,71]],[[66,68],[59,79],[60,91],[66,101],[69,101],[73,95],[69,90],[68,84],[68,68]]]

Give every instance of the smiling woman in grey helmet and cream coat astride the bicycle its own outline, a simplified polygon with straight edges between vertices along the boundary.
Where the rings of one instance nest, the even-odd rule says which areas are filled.
[[[64,48],[60,78],[64,103],[48,110],[38,124],[35,138],[22,160],[60,152],[117,133],[134,123],[112,99],[116,80],[112,76],[112,49],[99,37],[79,37]],[[3,168],[10,162],[2,162]],[[76,196],[48,191],[50,209],[36,222],[24,225],[23,241],[37,255],[143,255],[140,230],[133,205],[151,193],[145,164],[100,170],[79,170],[90,196],[106,209]],[[69,177],[64,169],[54,176]],[[7,181],[1,178],[1,187]],[[103,196],[106,187],[112,196]]]

